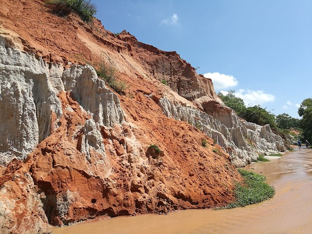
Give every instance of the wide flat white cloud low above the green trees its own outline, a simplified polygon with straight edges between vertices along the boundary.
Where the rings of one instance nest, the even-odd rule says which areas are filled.
[[[235,96],[242,98],[246,106],[262,105],[266,102],[273,102],[275,97],[272,94],[266,94],[263,90],[244,90],[239,89]]]

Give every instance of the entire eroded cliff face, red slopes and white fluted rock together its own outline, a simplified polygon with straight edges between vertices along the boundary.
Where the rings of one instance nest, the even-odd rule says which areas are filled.
[[[126,32],[116,38],[99,20],[51,15],[42,0],[3,0],[0,21],[4,233],[48,233],[47,222],[98,215],[222,206],[241,180],[230,159],[242,166],[256,152],[283,150],[268,126],[238,119],[211,79],[176,52]],[[130,85],[124,95],[92,66],[76,63],[101,59]],[[150,152],[152,144],[162,153]]]

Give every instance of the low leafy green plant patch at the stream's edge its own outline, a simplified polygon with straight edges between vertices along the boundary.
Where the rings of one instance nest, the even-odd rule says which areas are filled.
[[[264,182],[265,176],[243,169],[238,169],[238,172],[244,177],[245,181],[242,184],[236,184],[236,201],[230,203],[225,208],[229,209],[259,203],[273,197],[275,194],[275,189]]]

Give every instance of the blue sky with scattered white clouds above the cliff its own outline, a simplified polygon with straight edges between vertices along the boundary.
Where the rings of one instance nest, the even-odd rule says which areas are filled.
[[[312,0],[93,0],[104,28],[176,51],[215,90],[298,117],[312,92]]]

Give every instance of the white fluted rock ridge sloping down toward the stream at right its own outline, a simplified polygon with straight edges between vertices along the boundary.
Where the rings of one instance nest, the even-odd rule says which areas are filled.
[[[167,117],[188,122],[200,128],[216,140],[231,156],[236,167],[243,167],[258,158],[258,154],[268,155],[284,151],[281,137],[273,134],[269,125],[259,126],[240,120],[232,111],[230,116],[222,116],[227,121],[208,115],[191,105],[173,103],[166,97],[159,99],[158,105]]]

